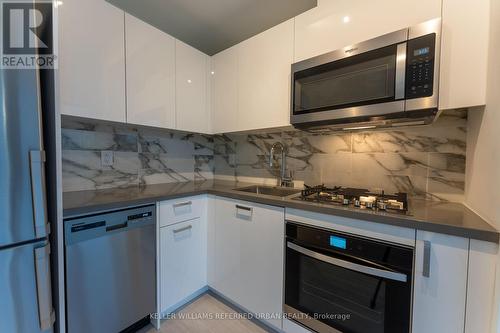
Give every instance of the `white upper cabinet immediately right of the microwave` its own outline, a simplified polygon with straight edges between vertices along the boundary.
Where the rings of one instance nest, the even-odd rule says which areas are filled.
[[[489,0],[443,0],[442,110],[486,104]]]

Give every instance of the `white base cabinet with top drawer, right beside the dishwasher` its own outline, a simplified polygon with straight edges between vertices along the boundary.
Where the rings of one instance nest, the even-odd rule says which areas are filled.
[[[207,197],[161,201],[159,227],[159,308],[176,310],[207,286]]]

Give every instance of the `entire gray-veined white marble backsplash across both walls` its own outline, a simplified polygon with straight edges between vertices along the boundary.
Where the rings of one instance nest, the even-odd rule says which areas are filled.
[[[306,184],[403,191],[462,201],[467,110],[443,112],[432,125],[366,132],[289,130],[201,135],[63,117],[64,191],[212,178],[275,178],[269,149],[288,147],[288,168]],[[101,151],[114,152],[113,166]],[[279,161],[277,163],[279,165]]]

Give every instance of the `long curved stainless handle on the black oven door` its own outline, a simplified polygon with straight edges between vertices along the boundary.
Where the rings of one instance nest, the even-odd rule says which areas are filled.
[[[300,252],[308,257],[326,262],[328,264],[332,264],[335,266],[339,266],[342,268],[349,269],[351,271],[367,274],[367,275],[372,275],[372,276],[377,276],[381,277],[384,279],[389,279],[389,280],[394,280],[394,281],[399,281],[399,282],[407,282],[408,281],[408,276],[403,273],[398,273],[398,272],[393,272],[393,271],[387,271],[384,269],[379,269],[379,268],[374,268],[374,267],[369,267],[365,265],[360,265],[356,264],[350,261],[345,261],[342,259],[337,259],[333,258],[327,255],[324,255],[322,253],[318,253],[315,251],[311,251],[309,249],[306,249],[305,247],[302,247],[300,245],[297,245],[295,243],[287,242],[287,247],[295,250],[297,252]]]

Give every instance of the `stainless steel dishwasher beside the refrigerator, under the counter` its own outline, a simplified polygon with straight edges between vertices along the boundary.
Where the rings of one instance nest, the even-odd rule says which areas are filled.
[[[65,220],[67,327],[117,333],[156,310],[155,205]]]

